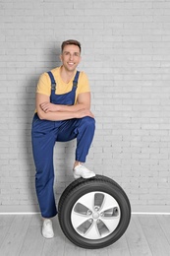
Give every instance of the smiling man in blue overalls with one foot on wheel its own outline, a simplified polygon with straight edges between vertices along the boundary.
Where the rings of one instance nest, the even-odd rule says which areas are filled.
[[[57,214],[53,192],[55,142],[77,138],[74,177],[95,176],[83,164],[93,139],[95,121],[90,111],[88,79],[84,72],[77,71],[81,62],[81,43],[77,40],[64,41],[60,59],[61,67],[39,78],[31,130],[35,187],[43,218],[42,234],[46,238],[54,236],[50,219]]]

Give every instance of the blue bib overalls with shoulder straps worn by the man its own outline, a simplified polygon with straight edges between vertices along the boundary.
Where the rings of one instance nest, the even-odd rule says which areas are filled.
[[[56,83],[51,72],[50,102],[73,105],[79,79],[79,71],[73,81],[72,91],[64,95],[56,95]],[[36,168],[35,188],[43,218],[52,218],[57,214],[53,183],[53,149],[56,141],[67,142],[77,138],[76,160],[85,162],[95,129],[95,120],[91,117],[74,118],[64,121],[48,121],[39,119],[34,114],[31,129],[32,153]]]

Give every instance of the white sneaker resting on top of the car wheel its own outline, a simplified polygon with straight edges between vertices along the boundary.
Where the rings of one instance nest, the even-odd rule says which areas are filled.
[[[93,171],[87,169],[82,164],[77,165],[74,168],[73,173],[74,173],[75,179],[78,179],[78,178],[81,178],[81,177],[83,177],[83,178],[91,178],[91,177],[95,176],[95,173]]]

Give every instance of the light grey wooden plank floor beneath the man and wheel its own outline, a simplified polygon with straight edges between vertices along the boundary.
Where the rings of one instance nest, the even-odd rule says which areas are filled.
[[[170,256],[170,216],[132,215],[125,234],[114,244],[86,250],[72,244],[62,233],[57,217],[55,237],[41,236],[39,215],[0,216],[0,255],[3,256]]]

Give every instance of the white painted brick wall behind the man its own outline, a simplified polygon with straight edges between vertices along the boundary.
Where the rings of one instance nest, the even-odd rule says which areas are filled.
[[[37,211],[30,125],[41,73],[64,39],[83,45],[95,138],[87,166],[115,179],[133,211],[170,211],[170,2],[0,1],[0,212]],[[55,148],[56,191],[75,142]]]

